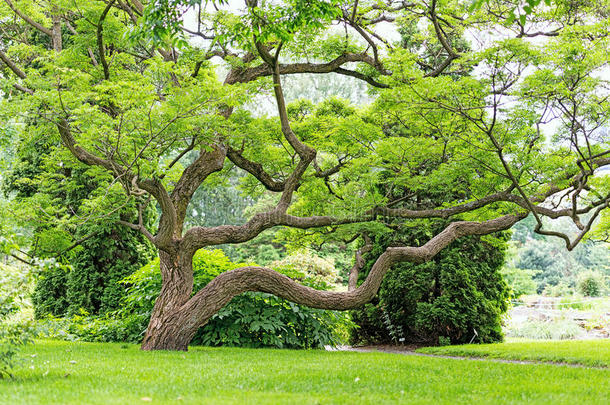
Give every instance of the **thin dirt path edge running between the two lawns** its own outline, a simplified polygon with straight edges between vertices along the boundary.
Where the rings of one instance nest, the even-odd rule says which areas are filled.
[[[415,350],[418,349],[418,346],[361,346],[361,347],[352,347],[352,346],[340,346],[334,350],[337,351],[351,351],[351,352],[362,352],[362,353],[373,353],[373,352],[381,352],[381,353],[393,353],[393,354],[402,354],[404,356],[420,356],[420,357],[436,357],[441,359],[452,359],[452,360],[473,360],[473,361],[491,361],[494,363],[507,363],[507,364],[543,364],[543,365],[551,365],[551,366],[565,366],[565,367],[576,367],[576,368],[594,368],[600,370],[607,370],[606,366],[591,366],[587,364],[577,364],[577,363],[565,363],[565,362],[553,362],[553,361],[544,361],[544,360],[511,360],[511,359],[497,359],[493,357],[476,357],[476,356],[450,356],[445,354],[427,354],[427,353],[417,353]]]

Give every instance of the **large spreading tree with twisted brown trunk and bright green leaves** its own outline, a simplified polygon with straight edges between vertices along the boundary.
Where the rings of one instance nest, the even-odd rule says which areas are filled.
[[[159,250],[163,286],[142,348],[186,350],[245,291],[344,310],[369,301],[393,264],[428,261],[457,238],[508,229],[528,213],[536,232],[568,249],[587,234],[610,201],[608,182],[595,175],[610,163],[600,131],[609,117],[600,73],[608,2],[560,0],[527,18],[513,17],[511,1],[475,11],[470,3],[3,0],[0,111],[17,117],[22,136],[57,137],[58,165],[71,156],[107,173],[92,211],[111,211],[120,198],[140,212],[157,204],[155,231],[142,215],[119,220]],[[413,27],[418,46],[394,46],[392,33],[404,38]],[[299,114],[282,83],[300,73],[364,81],[375,101],[332,106],[333,119]],[[262,92],[274,97],[276,116],[249,113]],[[415,135],[384,131],[396,122]],[[243,190],[273,193],[273,204],[243,224],[184,229],[197,189],[237,169],[248,173]],[[434,208],[398,208],[381,183],[450,192]],[[313,290],[263,267],[193,291],[201,248],[280,226],[353,240],[386,217],[453,222],[418,246],[388,247],[347,292]],[[543,217],[570,218],[577,236],[545,229]],[[361,262],[359,253],[352,279]]]

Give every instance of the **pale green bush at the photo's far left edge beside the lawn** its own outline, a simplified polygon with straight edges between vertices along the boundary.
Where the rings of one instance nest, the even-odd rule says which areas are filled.
[[[0,264],[0,378],[11,375],[20,346],[33,338],[31,323],[19,316],[28,293],[28,272]]]

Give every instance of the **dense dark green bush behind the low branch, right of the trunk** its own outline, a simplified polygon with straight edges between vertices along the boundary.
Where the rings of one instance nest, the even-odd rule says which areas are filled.
[[[420,238],[410,230],[407,245]],[[399,235],[398,235],[399,236]],[[378,239],[368,269],[397,234]],[[468,237],[452,243],[423,264],[401,263],[386,274],[377,297],[352,313],[359,326],[355,344],[452,344],[496,342],[502,339],[502,314],[509,290],[499,272],[506,235]],[[367,271],[361,274],[361,280]]]

